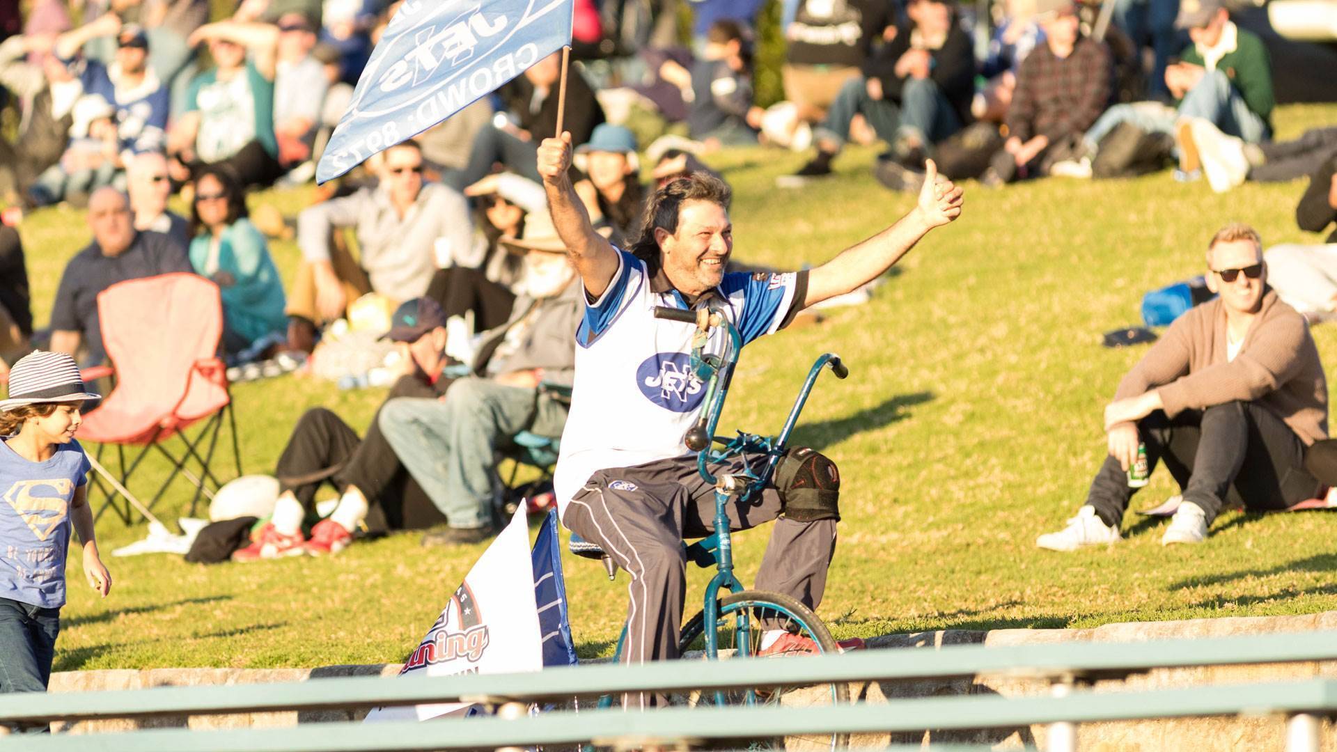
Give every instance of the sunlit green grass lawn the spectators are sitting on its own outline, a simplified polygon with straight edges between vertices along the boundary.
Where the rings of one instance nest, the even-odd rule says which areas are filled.
[[[1282,136],[1337,120],[1337,107],[1293,106]],[[822,262],[900,217],[908,195],[885,191],[874,151],[837,161],[838,179],[804,191],[773,187],[800,155],[730,151],[715,159],[735,189],[741,260]],[[1227,512],[1211,538],[1163,549],[1157,523],[1128,515],[1123,543],[1078,554],[1040,551],[1035,537],[1082,503],[1104,454],[1102,408],[1144,348],[1103,349],[1100,333],[1139,320],[1146,290],[1202,272],[1203,244],[1229,219],[1271,242],[1318,242],[1296,229],[1294,185],[1249,183],[1225,195],[1169,173],[1134,181],[1048,179],[989,191],[967,186],[967,209],[936,231],[864,306],[769,337],[739,365],[725,423],[775,431],[812,359],[838,352],[848,381],[824,377],[797,439],[844,470],[844,522],[821,613],[837,637],[944,628],[1064,628],[1114,621],[1313,613],[1337,607],[1334,518],[1322,512]],[[294,213],[305,191],[273,191]],[[79,213],[53,209],[21,227],[35,313],[45,322],[66,260],[87,241]],[[271,246],[290,278],[297,250]],[[1337,353],[1337,326],[1314,331]],[[289,430],[325,405],[362,428],[382,392],[275,379],[234,391],[245,468],[270,472]],[[144,488],[144,486],[140,486]],[[1134,500],[1173,494],[1159,472]],[[183,514],[187,487],[160,508]],[[143,535],[103,518],[106,551]],[[767,533],[742,534],[745,579]],[[400,661],[483,551],[422,549],[417,534],[357,545],[332,559],[249,566],[176,557],[111,558],[106,601],[72,586],[56,670],[151,666],[317,666]],[[82,581],[80,565],[70,579]],[[689,603],[706,573],[694,571]],[[611,654],[627,575],[567,559],[572,629],[586,656]],[[690,606],[691,607],[691,606]],[[693,607],[693,610],[695,610]]]

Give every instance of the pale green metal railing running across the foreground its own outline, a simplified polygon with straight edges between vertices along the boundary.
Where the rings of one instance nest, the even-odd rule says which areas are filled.
[[[400,751],[595,743],[690,747],[701,741],[801,733],[897,733],[1008,729],[1050,724],[1048,749],[1074,749],[1080,723],[1165,717],[1278,715],[1288,749],[1318,749],[1321,720],[1337,715],[1337,680],[1091,692],[1084,685],[1158,668],[1337,660],[1337,633],[1271,634],[1140,644],[1080,642],[1012,648],[885,649],[804,660],[670,661],[575,666],[529,674],[356,677],[305,682],[180,686],[123,692],[0,696],[0,723],[154,719],[275,711],[354,709],[468,701],[501,708],[622,692],[686,692],[826,682],[885,682],[1007,676],[1051,682],[1050,696],[963,696],[813,708],[560,709],[537,716],[432,723],[324,723],[233,731],[147,729],[128,733],[3,736],[0,752],[59,751]],[[588,704],[586,705],[588,707]],[[512,716],[519,713],[511,713]]]

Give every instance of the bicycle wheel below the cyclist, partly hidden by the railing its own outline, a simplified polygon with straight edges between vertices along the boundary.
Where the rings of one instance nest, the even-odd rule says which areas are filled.
[[[678,648],[683,657],[690,652],[705,650],[706,614],[698,613],[682,628]],[[745,640],[741,625],[746,625],[746,650],[739,642]],[[765,625],[765,626],[763,626]],[[719,599],[719,621],[715,636],[722,660],[734,660],[739,654],[755,657],[761,652],[762,633],[767,629],[785,629],[793,634],[812,638],[820,653],[837,653],[836,640],[830,630],[817,618],[812,609],[797,598],[783,593],[766,590],[743,590],[730,593]],[[705,657],[705,656],[702,656]],[[809,686],[757,686],[747,690],[722,693],[726,705],[774,705],[813,707],[849,702],[849,685],[818,684]],[[670,704],[677,705],[717,705],[721,696],[715,692],[691,692],[670,696]],[[794,752],[817,752],[821,749],[841,749],[849,745],[848,733],[785,736],[755,740],[730,740],[725,743],[733,749],[785,749]]]

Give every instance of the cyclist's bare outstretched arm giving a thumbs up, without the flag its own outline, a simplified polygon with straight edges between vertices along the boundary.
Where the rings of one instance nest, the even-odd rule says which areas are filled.
[[[924,187],[919,205],[890,227],[850,246],[808,274],[808,297],[804,308],[826,298],[845,294],[865,285],[909,253],[915,244],[933,227],[940,227],[961,215],[964,197],[960,186],[937,177],[932,159],[925,165]]]

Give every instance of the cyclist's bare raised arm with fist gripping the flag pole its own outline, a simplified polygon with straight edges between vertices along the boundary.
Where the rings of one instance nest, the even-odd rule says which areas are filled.
[[[548,194],[552,225],[567,246],[567,256],[575,265],[586,292],[594,297],[603,294],[618,273],[618,252],[590,223],[584,203],[571,186],[571,134],[545,138],[539,145],[539,175]]]

